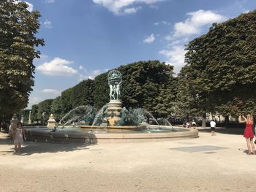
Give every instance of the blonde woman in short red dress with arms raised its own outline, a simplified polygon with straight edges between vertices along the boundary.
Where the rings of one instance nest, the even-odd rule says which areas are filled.
[[[240,115],[238,118],[239,123],[246,123],[244,129],[244,137],[246,139],[247,148],[248,148],[248,155],[255,155],[255,145],[253,143],[253,131],[252,131],[252,124],[253,124],[253,117],[252,115],[248,114],[247,118],[244,115]]]

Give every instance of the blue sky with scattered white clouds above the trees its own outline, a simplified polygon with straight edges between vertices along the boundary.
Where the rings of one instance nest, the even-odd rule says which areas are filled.
[[[26,0],[38,10],[41,58],[28,109],[88,78],[135,61],[184,66],[185,45],[256,9],[256,0]]]

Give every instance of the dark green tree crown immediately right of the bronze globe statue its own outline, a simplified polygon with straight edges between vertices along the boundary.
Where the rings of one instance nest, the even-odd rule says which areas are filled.
[[[159,61],[139,61],[120,66],[118,70],[123,74],[121,99],[124,106],[142,107],[156,116],[170,115],[176,84],[173,66]]]

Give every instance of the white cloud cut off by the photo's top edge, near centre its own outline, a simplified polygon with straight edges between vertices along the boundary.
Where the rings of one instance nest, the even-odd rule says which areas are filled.
[[[100,4],[106,7],[110,12],[115,15],[124,15],[135,13],[140,9],[140,7],[129,7],[133,4],[148,4],[153,5],[159,1],[165,0],[93,0],[95,4]]]

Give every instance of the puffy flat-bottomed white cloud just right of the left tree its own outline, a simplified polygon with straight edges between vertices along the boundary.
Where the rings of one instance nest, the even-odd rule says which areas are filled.
[[[54,58],[50,62],[45,62],[44,64],[37,67],[37,70],[42,72],[42,74],[47,75],[73,75],[76,74],[78,71],[72,69],[72,67],[67,66],[72,64],[73,61],[67,61],[62,58]]]

